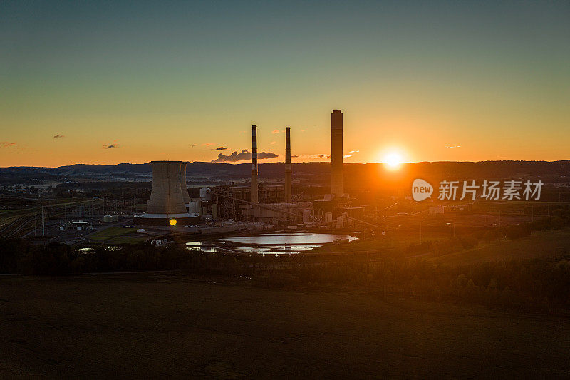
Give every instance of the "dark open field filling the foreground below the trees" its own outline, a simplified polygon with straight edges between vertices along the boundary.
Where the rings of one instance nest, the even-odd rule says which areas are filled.
[[[0,277],[0,377],[569,377],[570,321],[164,274]]]

